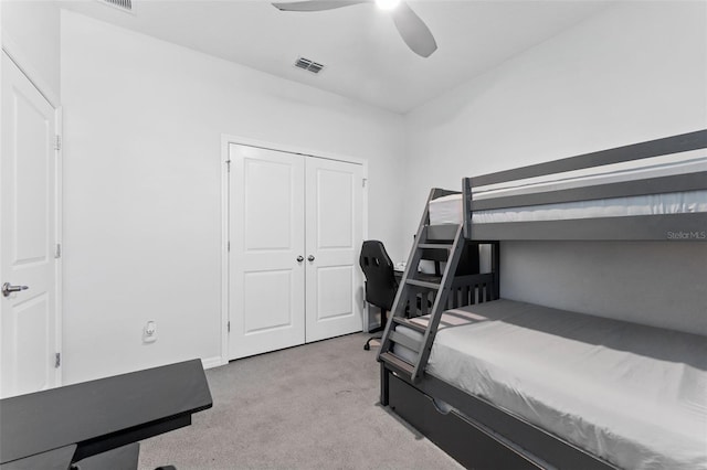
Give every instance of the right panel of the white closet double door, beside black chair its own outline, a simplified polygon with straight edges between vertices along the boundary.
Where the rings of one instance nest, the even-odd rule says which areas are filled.
[[[319,158],[306,163],[307,342],[361,331],[363,169]]]

